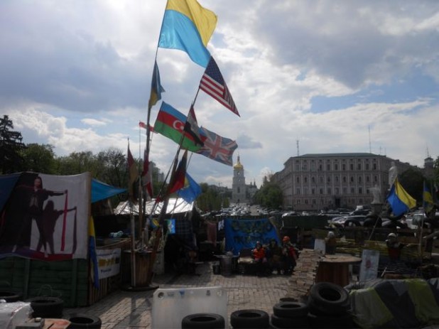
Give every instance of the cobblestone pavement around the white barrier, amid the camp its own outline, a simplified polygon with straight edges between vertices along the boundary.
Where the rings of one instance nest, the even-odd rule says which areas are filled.
[[[153,278],[151,286],[158,288],[190,288],[222,286],[227,291],[227,313],[237,310],[257,309],[273,313],[274,304],[288,292],[291,276],[273,274],[267,277],[233,274],[222,276],[213,274],[212,262],[197,266],[197,274],[180,275],[163,274]],[[102,328],[152,328],[151,308],[153,303],[151,291],[115,291],[101,301],[85,308],[65,308],[64,313],[82,313],[98,316]]]

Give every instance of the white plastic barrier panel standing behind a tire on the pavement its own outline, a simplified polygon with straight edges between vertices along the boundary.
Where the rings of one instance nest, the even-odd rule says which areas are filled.
[[[221,286],[197,288],[158,288],[153,294],[151,327],[180,329],[186,315],[215,313],[222,315],[225,328],[227,318],[227,291]]]

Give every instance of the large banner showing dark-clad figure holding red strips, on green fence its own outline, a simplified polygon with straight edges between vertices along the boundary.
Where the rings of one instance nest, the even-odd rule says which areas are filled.
[[[90,173],[0,176],[0,258],[87,259]]]

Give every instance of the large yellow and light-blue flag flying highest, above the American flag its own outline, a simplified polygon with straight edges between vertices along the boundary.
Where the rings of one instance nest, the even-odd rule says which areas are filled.
[[[183,50],[193,62],[207,66],[207,43],[217,26],[217,16],[196,0],[168,0],[158,47]]]

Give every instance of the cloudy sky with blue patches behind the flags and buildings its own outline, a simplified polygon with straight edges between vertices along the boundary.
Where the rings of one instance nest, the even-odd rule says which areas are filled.
[[[298,154],[372,151],[417,166],[439,156],[439,1],[199,2],[218,16],[207,48],[241,117],[200,92],[197,121],[237,141],[246,183],[259,186]],[[0,1],[1,116],[58,156],[126,152],[129,138],[139,157],[154,58],[163,100],[185,114],[204,72],[180,50],[157,50],[165,6]],[[153,135],[163,172],[176,150]],[[204,156],[193,154],[188,172],[232,186],[232,167]]]

